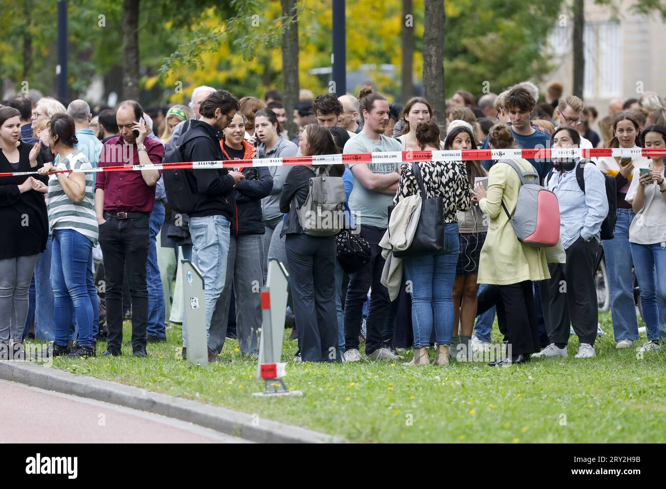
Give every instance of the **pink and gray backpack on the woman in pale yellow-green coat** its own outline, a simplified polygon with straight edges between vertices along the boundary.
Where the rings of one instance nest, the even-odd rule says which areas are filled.
[[[500,160],[506,163],[518,174],[522,186],[518,191],[518,202],[509,215],[504,202],[501,206],[518,240],[524,244],[541,248],[555,246],[559,241],[559,204],[557,196],[550,190],[543,188],[539,182],[537,172],[523,172],[513,160]],[[533,176],[534,180],[527,180]]]

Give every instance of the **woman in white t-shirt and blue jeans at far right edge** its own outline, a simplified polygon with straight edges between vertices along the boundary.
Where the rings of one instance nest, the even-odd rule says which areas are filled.
[[[666,127],[647,126],[641,146],[666,148]],[[647,342],[639,352],[659,349],[666,338],[666,181],[663,156],[653,156],[647,168],[637,168],[627,192],[627,202],[636,213],[629,227],[629,247],[641,289],[641,305]],[[660,314],[661,313],[661,314]]]

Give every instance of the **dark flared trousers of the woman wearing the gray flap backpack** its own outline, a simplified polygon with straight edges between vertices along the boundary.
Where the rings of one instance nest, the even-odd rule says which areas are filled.
[[[341,361],[335,303],[335,236],[288,234],[285,248],[301,359]]]

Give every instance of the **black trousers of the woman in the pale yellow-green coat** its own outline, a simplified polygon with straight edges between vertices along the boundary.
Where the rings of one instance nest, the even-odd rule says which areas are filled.
[[[531,281],[488,285],[479,294],[477,314],[485,313],[493,306],[497,307],[500,333],[511,345],[511,355],[525,355],[541,350]]]

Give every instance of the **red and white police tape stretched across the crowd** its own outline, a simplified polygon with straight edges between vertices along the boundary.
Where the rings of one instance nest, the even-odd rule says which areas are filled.
[[[375,153],[324,154],[320,156],[292,156],[288,158],[252,158],[251,160],[214,160],[182,163],[104,166],[89,170],[59,170],[57,173],[126,172],[130,170],[198,170],[200,168],[238,168],[259,166],[330,165],[356,163],[406,163],[421,161],[501,160],[525,158],[546,160],[549,158],[631,158],[632,156],[666,156],[666,149],[647,148],[532,148],[511,150],[441,150],[441,151],[393,151]],[[34,175],[37,172],[0,173],[1,176]]]

